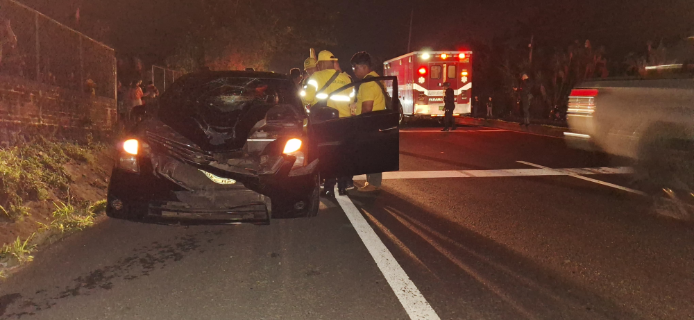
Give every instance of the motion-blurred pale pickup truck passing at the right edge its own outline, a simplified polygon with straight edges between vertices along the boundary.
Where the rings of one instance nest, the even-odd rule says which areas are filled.
[[[569,97],[566,141],[636,160],[636,177],[654,190],[694,200],[694,78],[586,82]],[[648,69],[648,68],[647,68]],[[662,74],[662,70],[658,71]]]

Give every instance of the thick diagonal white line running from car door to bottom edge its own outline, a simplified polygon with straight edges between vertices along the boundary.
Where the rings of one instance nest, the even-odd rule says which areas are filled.
[[[381,239],[378,238],[378,235],[369,226],[369,223],[366,222],[366,219],[364,219],[354,203],[348,196],[336,196],[336,198],[355,230],[357,230],[359,238],[362,239],[366,249],[371,253],[371,257],[376,262],[378,269],[383,273],[391,289],[393,289],[398,300],[400,300],[403,308],[405,308],[409,318],[413,320],[439,320],[439,315],[434,312],[427,299],[412,283],[403,267],[400,267],[393,254],[381,242]]]

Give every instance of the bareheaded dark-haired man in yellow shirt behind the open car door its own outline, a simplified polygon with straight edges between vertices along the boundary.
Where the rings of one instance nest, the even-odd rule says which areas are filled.
[[[350,60],[352,69],[358,79],[374,78],[379,75],[371,67],[371,56],[364,51],[355,53]],[[383,83],[372,81],[357,87],[355,95],[355,115],[366,112],[386,110],[386,91]],[[383,174],[367,174],[366,184],[358,189],[359,192],[374,192],[381,188]]]

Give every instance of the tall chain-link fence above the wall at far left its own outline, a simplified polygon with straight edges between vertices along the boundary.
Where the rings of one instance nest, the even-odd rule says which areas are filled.
[[[0,0],[0,76],[115,99],[113,49],[14,0]]]

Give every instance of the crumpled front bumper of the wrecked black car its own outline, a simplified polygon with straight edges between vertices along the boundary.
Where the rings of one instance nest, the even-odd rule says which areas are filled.
[[[188,175],[198,175],[188,181],[196,181],[194,187],[181,183],[176,175],[169,176],[155,170],[151,157],[138,160],[139,173],[117,167],[112,171],[107,206],[110,217],[195,224],[269,224],[270,199],[307,201],[305,198],[312,192],[315,181],[312,171],[305,171],[303,175],[290,174],[293,157],[282,158],[274,172],[264,174],[235,174],[176,160]],[[236,183],[212,183],[203,171],[236,180]],[[122,208],[114,208],[114,201],[120,201]]]

